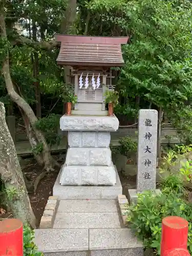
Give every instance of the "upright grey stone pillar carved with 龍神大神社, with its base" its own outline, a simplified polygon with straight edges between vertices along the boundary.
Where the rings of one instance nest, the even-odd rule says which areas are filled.
[[[137,202],[137,194],[156,189],[157,168],[157,110],[139,110],[137,189],[128,189],[129,201]]]

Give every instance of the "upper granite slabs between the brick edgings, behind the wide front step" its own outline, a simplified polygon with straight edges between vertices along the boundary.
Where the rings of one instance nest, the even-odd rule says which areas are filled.
[[[60,200],[53,228],[120,228],[116,200]]]

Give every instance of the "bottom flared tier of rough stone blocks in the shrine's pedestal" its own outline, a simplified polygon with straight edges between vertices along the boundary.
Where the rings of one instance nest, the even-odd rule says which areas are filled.
[[[105,185],[116,184],[115,167],[111,166],[70,166],[63,165],[60,176],[61,185]]]

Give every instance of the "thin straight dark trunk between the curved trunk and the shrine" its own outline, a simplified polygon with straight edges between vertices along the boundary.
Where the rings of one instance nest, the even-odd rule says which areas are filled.
[[[37,27],[36,23],[33,20],[32,22],[32,38],[34,41],[37,41]],[[34,52],[32,55],[32,64],[33,64],[33,76],[35,78],[35,97],[36,97],[36,117],[41,118],[41,101],[40,101],[40,84],[39,84],[39,59],[38,53]]]

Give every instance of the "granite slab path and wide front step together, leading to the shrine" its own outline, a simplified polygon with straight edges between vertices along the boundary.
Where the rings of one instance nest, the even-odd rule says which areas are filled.
[[[116,200],[60,200],[50,229],[35,243],[49,256],[143,256],[143,245],[124,228]]]

